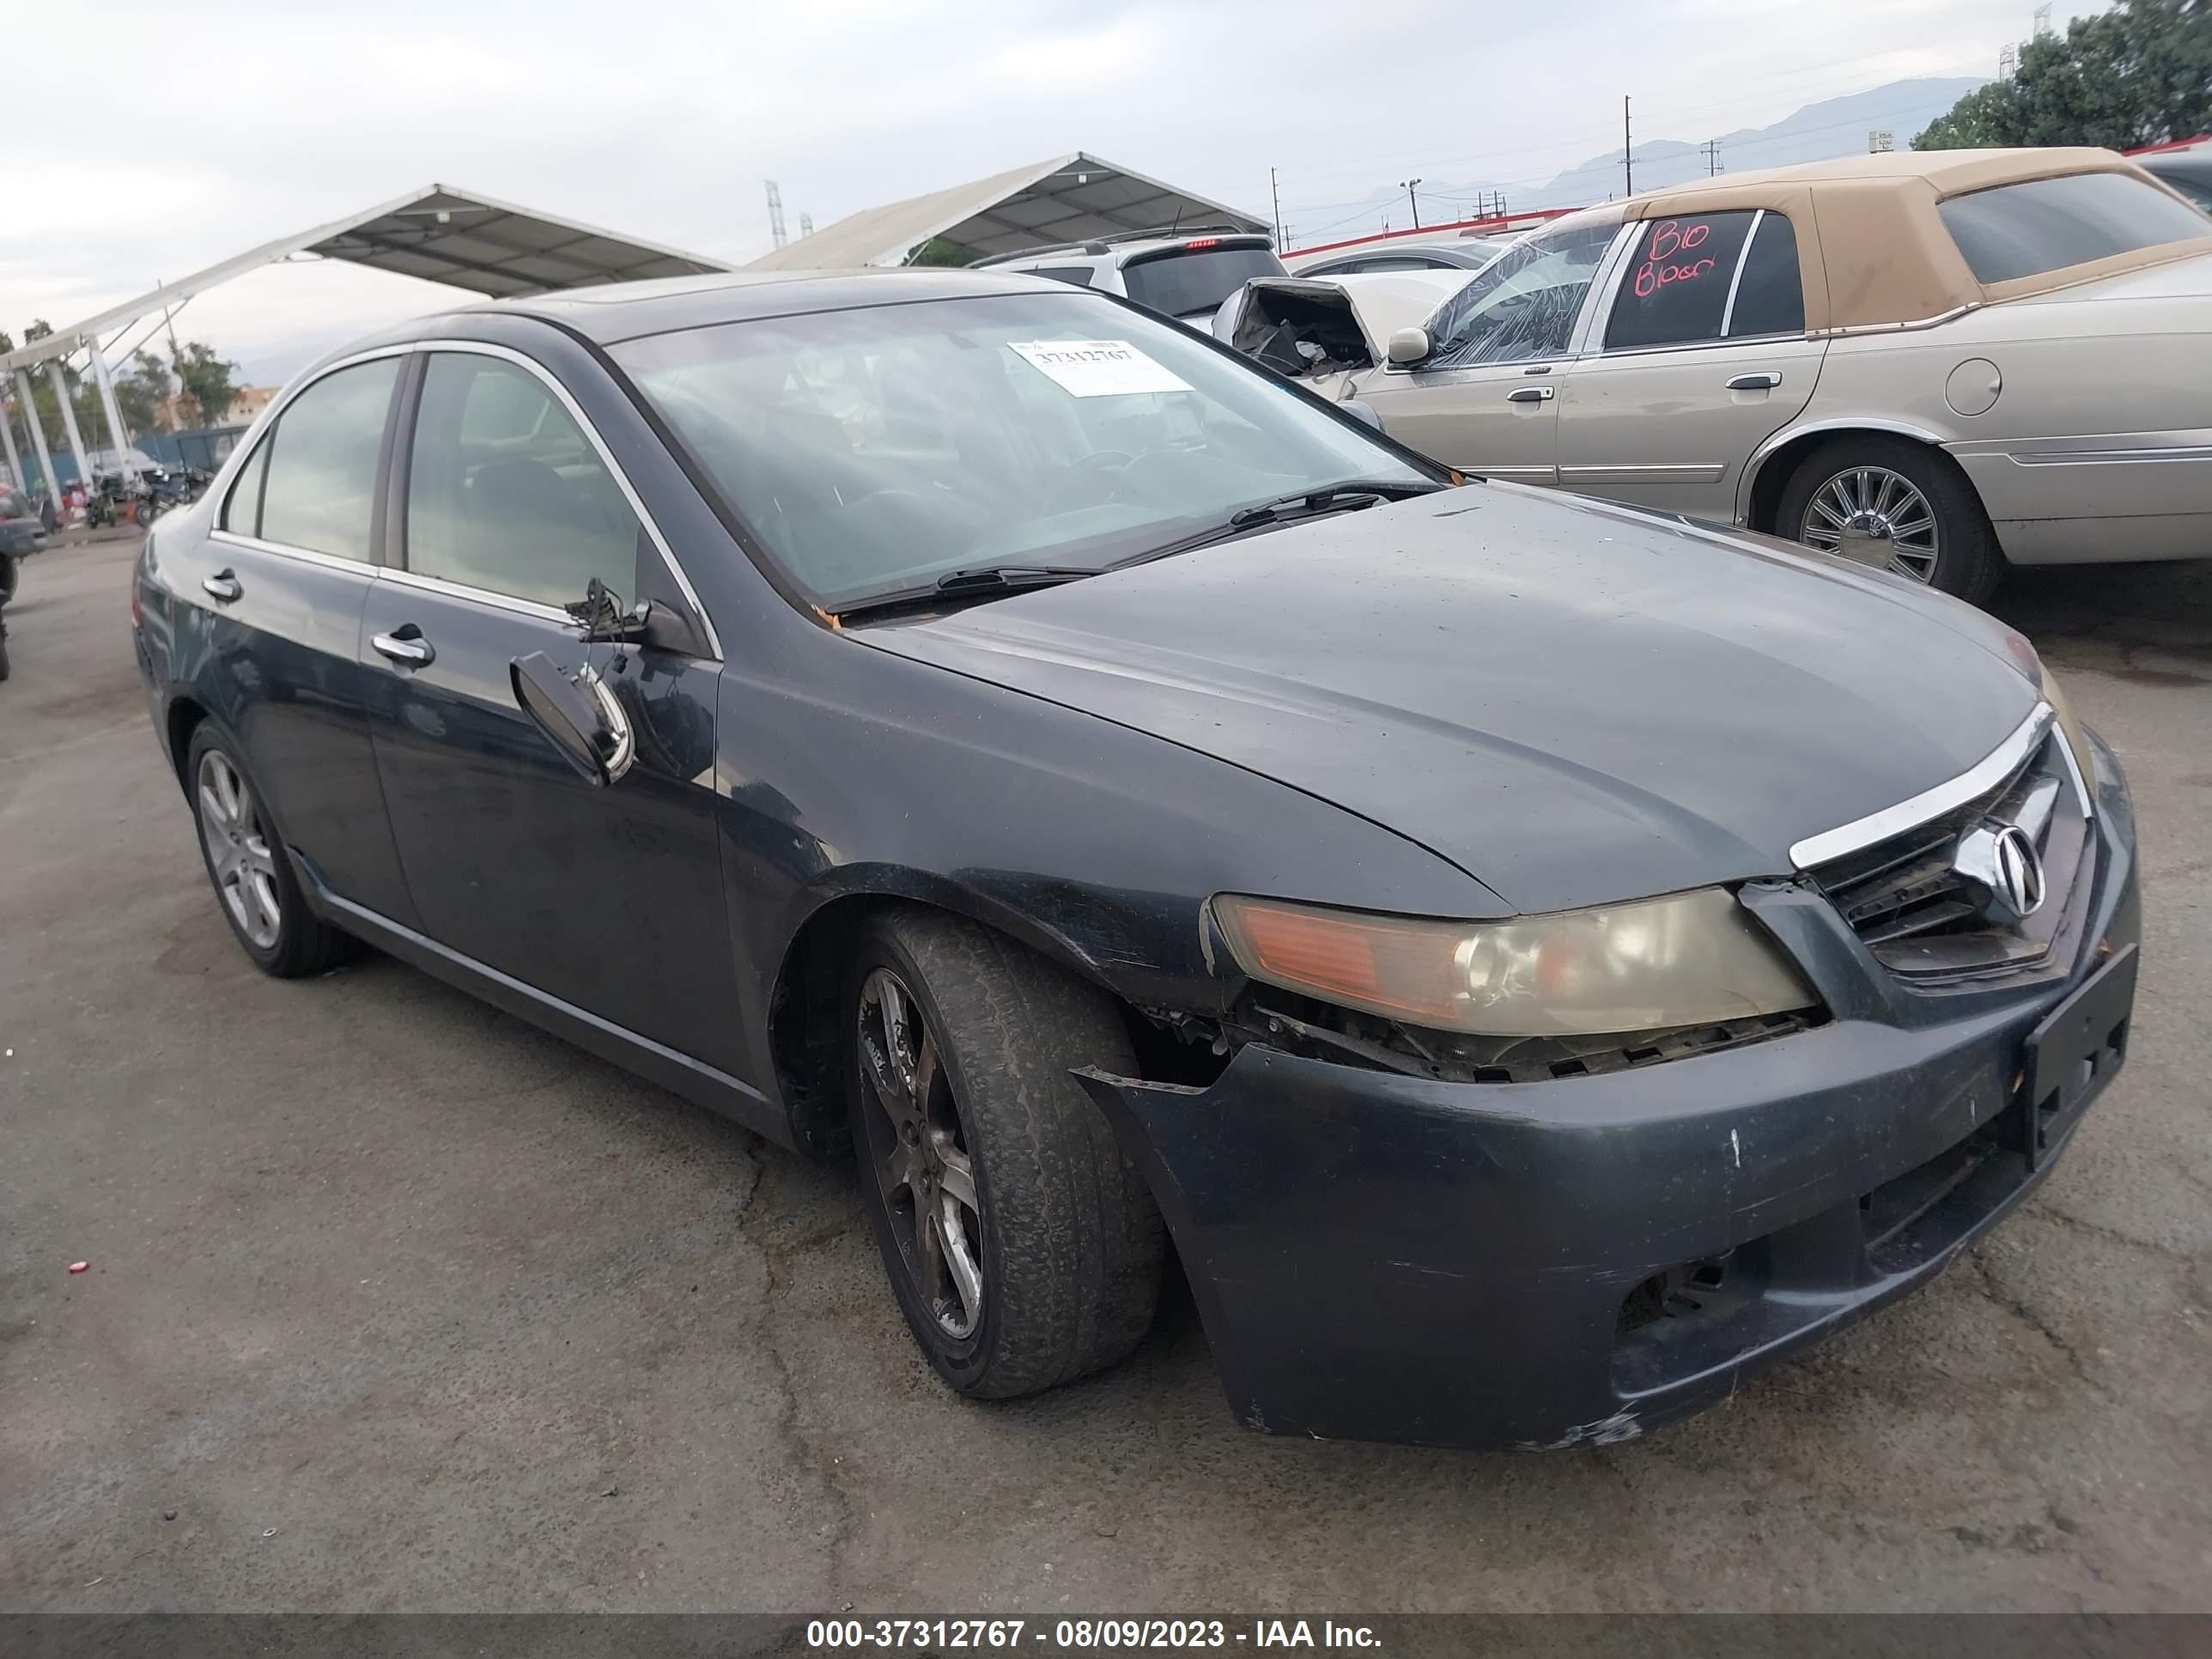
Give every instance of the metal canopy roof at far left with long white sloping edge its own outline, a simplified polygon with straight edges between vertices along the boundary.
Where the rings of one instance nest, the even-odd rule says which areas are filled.
[[[296,254],[345,259],[372,270],[422,276],[471,288],[493,299],[544,294],[555,288],[626,283],[644,276],[697,276],[730,270],[719,259],[686,254],[637,237],[617,237],[573,219],[515,208],[473,190],[429,184],[398,201],[336,219],[314,230],[252,248],[221,265],[164,283],[150,294],[113,305],[100,316],[58,330],[0,356],[0,374],[69,356],[104,332],[177,305],[217,283]]]

